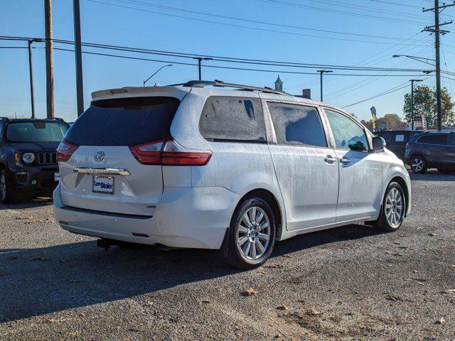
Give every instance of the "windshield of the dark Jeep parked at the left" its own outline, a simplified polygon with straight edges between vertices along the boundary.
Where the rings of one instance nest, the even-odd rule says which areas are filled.
[[[60,142],[68,124],[45,121],[11,122],[6,126],[9,142]]]

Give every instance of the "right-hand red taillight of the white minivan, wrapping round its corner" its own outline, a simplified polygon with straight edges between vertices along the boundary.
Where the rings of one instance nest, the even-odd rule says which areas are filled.
[[[144,165],[204,166],[212,156],[211,151],[186,149],[173,140],[138,144],[129,150]]]

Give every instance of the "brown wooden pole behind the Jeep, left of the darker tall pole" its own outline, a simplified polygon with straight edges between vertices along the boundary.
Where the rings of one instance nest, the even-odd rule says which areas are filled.
[[[52,55],[52,4],[51,0],[44,0],[45,23],[45,92],[47,117],[54,117],[54,70]]]

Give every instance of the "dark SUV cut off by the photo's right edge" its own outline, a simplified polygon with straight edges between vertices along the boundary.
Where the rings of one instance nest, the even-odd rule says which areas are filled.
[[[438,168],[441,173],[455,171],[455,132],[431,131],[418,134],[406,146],[405,163],[414,173]]]

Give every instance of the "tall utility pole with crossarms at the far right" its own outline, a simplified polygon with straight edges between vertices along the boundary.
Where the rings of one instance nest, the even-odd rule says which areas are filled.
[[[448,25],[453,21],[446,21],[444,23],[439,23],[439,12],[443,11],[447,7],[455,6],[455,1],[453,4],[442,4],[439,6],[439,0],[434,0],[433,9],[423,9],[424,12],[434,11],[434,26],[427,26],[424,28],[424,31],[434,33],[435,44],[434,48],[436,50],[436,100],[437,100],[437,114],[438,114],[438,130],[442,130],[442,105],[441,105],[441,61],[439,58],[439,38],[441,34],[449,33],[449,31],[439,29],[440,26]]]

